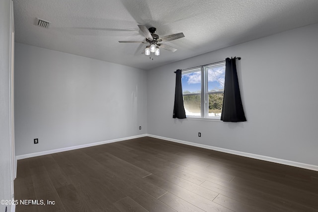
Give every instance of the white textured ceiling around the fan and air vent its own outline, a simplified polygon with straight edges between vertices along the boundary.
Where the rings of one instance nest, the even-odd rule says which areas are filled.
[[[318,23],[318,0],[13,0],[15,41],[149,70],[217,49]],[[36,17],[51,21],[35,25]],[[138,24],[178,51],[141,54]]]

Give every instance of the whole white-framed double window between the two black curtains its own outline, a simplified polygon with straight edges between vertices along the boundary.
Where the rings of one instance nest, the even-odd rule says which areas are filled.
[[[220,119],[224,96],[225,62],[182,71],[185,114]]]

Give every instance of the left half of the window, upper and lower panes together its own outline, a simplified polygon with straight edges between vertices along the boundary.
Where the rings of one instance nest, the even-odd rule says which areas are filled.
[[[181,83],[185,114],[201,117],[201,70],[182,73]]]

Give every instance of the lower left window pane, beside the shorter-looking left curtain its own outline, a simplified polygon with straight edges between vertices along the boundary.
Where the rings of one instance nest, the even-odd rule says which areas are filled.
[[[183,96],[185,115],[201,117],[201,94]]]

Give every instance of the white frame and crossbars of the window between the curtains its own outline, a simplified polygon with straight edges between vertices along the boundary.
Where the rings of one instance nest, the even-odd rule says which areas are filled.
[[[219,67],[219,66],[225,66],[225,62],[202,66],[201,69],[193,68],[190,70],[182,71],[182,74],[195,72],[199,70],[201,71],[201,93],[189,93],[189,94],[182,93],[182,96],[201,94],[201,116],[199,117],[199,116],[186,115],[187,118],[221,120],[220,116],[209,116],[209,94],[216,94],[216,93],[224,94],[224,90],[223,91],[208,91],[208,71],[207,71],[211,67]]]

